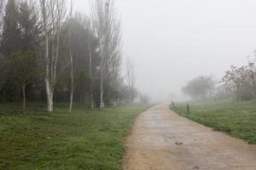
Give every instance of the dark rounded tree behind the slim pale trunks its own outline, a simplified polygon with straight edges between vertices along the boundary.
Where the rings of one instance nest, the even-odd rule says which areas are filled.
[[[72,31],[72,38],[70,38],[70,31]],[[98,83],[100,57],[97,48],[98,41],[92,33],[89,18],[83,14],[74,14],[72,19],[67,18],[61,26],[61,54],[57,67],[56,90],[58,93],[55,94],[57,96],[56,101],[66,98],[61,98],[59,93],[63,95],[68,92],[68,96],[71,97],[71,75],[73,75],[73,101],[89,104],[91,109],[99,106],[99,103],[96,103],[99,98],[97,92],[100,88]],[[70,56],[72,56],[73,65],[70,62]],[[67,74],[70,76],[67,77]],[[68,101],[70,102],[70,98]]]

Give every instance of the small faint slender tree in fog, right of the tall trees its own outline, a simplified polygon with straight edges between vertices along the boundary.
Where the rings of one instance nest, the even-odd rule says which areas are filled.
[[[135,98],[136,74],[134,63],[130,58],[125,63],[125,79],[129,88],[129,103],[131,103]]]

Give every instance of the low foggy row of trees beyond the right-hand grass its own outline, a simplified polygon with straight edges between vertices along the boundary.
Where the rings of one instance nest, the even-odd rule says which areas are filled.
[[[220,80],[213,76],[196,77],[190,80],[182,91],[194,100],[256,100],[256,57],[248,57],[247,65],[231,65]]]

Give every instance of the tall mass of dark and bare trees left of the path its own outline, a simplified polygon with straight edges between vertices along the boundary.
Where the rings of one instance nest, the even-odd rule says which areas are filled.
[[[83,103],[104,108],[137,97],[132,61],[121,74],[122,28],[113,0],[1,0],[0,99]],[[128,83],[126,83],[128,82]]]

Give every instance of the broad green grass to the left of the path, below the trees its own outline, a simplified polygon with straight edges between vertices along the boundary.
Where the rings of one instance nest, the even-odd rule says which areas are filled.
[[[42,105],[38,106],[41,107]],[[27,115],[0,104],[0,169],[119,169],[124,137],[148,105]]]

